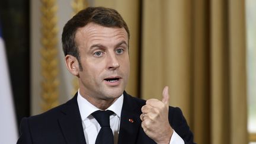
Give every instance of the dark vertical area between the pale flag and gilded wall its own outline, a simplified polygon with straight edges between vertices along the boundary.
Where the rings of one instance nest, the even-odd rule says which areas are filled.
[[[8,57],[17,123],[30,115],[29,0],[0,1],[2,36]]]

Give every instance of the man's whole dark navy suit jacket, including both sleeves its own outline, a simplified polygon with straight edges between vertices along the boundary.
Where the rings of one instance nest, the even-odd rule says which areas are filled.
[[[20,125],[20,138],[17,144],[85,144],[84,130],[79,113],[77,94],[67,103],[59,105],[46,113],[23,118]],[[119,144],[155,143],[146,136],[141,127],[140,100],[124,92],[119,130]],[[129,121],[133,120],[133,123]],[[169,107],[169,123],[185,143],[193,143],[193,133],[180,110]]]

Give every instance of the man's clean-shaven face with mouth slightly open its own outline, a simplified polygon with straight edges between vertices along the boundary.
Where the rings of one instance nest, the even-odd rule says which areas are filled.
[[[79,92],[92,101],[113,101],[123,94],[130,72],[126,30],[89,23],[78,28],[75,41],[82,66]]]

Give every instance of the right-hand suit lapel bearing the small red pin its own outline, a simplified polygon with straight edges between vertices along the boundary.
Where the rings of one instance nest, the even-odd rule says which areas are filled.
[[[140,108],[132,101],[132,97],[124,92],[123,107],[119,130],[119,144],[136,143],[140,127]]]

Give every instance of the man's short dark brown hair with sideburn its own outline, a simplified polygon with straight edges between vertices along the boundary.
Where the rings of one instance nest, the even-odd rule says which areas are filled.
[[[64,55],[75,56],[78,59],[80,68],[82,67],[78,47],[75,43],[75,34],[78,28],[84,27],[89,23],[95,23],[104,27],[124,28],[128,34],[128,40],[130,39],[129,28],[119,12],[115,9],[104,7],[88,7],[82,9],[65,24],[62,32],[62,49]]]

